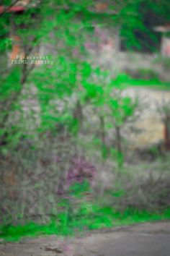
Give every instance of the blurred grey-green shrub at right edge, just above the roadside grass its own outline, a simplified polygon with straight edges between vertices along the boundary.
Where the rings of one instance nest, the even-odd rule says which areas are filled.
[[[162,211],[170,204],[169,156],[153,163],[126,166],[115,175],[115,184],[105,189],[105,204],[121,212],[127,208]],[[106,199],[107,198],[107,199]]]

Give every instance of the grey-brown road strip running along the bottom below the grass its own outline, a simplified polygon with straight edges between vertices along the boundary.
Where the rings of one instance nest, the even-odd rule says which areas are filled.
[[[170,221],[143,223],[63,239],[43,236],[0,244],[0,256],[169,256]]]

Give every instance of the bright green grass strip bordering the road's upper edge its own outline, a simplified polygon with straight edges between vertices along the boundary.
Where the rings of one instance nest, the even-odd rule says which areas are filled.
[[[63,217],[66,217],[66,215]],[[0,239],[4,239],[6,242],[17,242],[24,236],[35,237],[52,234],[58,236],[73,236],[77,234],[77,232],[84,230],[109,229],[115,226],[169,219],[170,208],[165,210],[164,213],[149,213],[146,210],[139,211],[130,208],[120,213],[110,207],[96,208],[95,214],[82,214],[79,218],[72,218],[70,221],[67,220],[67,223],[66,221],[59,223],[53,219],[45,225],[30,222],[17,226],[1,226]]]

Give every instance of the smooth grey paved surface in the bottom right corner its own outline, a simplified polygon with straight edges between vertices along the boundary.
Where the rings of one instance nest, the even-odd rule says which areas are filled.
[[[121,239],[105,242],[99,250],[104,256],[169,256],[170,235],[124,234]]]

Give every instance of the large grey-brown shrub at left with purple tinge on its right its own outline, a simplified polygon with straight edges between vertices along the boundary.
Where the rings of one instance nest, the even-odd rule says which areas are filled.
[[[80,195],[75,182],[82,192],[94,182],[95,167],[77,152],[71,138],[48,135],[39,140],[36,145],[23,140],[17,151],[1,157],[1,222],[47,221],[61,213],[58,202]]]

